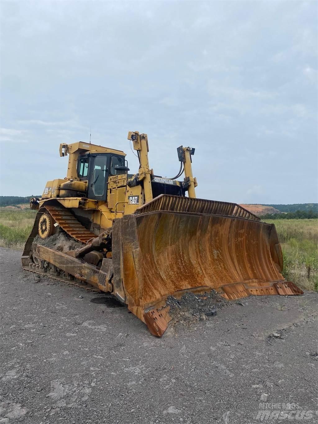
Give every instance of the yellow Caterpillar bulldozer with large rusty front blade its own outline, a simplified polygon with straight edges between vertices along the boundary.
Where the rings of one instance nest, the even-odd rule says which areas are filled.
[[[169,296],[303,293],[282,276],[273,224],[238,204],[196,198],[195,148],[177,148],[179,172],[166,178],[149,167],[147,134],[130,131],[128,140],[136,174],[123,151],[60,145],[67,176],[47,181],[42,197],[30,199],[38,212],[23,268],[111,293],[158,337],[171,319]]]

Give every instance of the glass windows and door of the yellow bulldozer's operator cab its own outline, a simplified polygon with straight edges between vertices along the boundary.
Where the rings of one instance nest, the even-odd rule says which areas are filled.
[[[78,156],[77,175],[80,181],[88,181],[87,197],[106,201],[109,176],[127,174],[125,156],[115,153],[86,153]]]

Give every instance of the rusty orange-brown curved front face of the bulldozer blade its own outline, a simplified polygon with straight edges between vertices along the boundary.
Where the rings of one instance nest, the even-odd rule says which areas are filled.
[[[284,281],[271,256],[270,230],[271,226],[257,221],[216,215],[137,216],[142,302],[155,304],[194,287]],[[125,280],[126,285],[129,291]],[[243,295],[244,289],[238,290]]]

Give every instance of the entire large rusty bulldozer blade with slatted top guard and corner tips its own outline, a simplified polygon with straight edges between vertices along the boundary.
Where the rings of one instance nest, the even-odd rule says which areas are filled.
[[[281,274],[275,226],[237,204],[161,195],[112,227],[114,294],[161,336],[168,296],[302,294]]]

